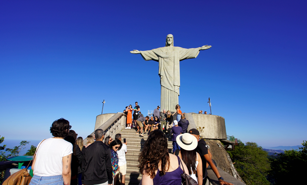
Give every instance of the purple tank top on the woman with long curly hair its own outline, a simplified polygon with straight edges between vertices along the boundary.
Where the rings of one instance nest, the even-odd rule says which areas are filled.
[[[183,174],[183,171],[180,167],[179,157],[177,156],[177,158],[179,167],[173,172],[165,172],[163,176],[160,176],[160,170],[158,169],[156,176],[153,178],[154,185],[181,185],[181,174]]]

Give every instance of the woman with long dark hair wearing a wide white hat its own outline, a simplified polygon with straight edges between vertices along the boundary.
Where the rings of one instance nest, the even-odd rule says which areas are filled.
[[[180,146],[180,152],[178,156],[183,160],[185,165],[187,165],[190,177],[197,181],[199,185],[203,184],[202,161],[199,153],[195,152],[194,150],[197,147],[196,137],[189,133],[184,133],[178,135],[176,141]],[[195,175],[196,172],[198,179]]]

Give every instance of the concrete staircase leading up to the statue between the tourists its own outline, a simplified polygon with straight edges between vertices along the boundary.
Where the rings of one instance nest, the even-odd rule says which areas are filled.
[[[139,184],[142,179],[142,174],[139,172],[138,165],[138,155],[143,151],[144,143],[148,138],[147,134],[144,134],[144,137],[139,134],[135,134],[135,129],[122,129],[120,134],[122,134],[122,141],[126,138],[127,141],[127,173],[125,176],[125,184]],[[168,147],[169,153],[172,152],[172,141],[171,138],[168,138]]]

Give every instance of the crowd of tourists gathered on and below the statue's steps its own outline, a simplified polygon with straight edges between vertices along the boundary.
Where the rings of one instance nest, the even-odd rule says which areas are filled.
[[[177,113],[181,113],[180,106],[176,107]],[[132,110],[139,111],[139,107]],[[150,119],[148,116],[134,117],[141,134],[144,126],[144,131],[149,133],[138,158],[142,174],[140,184],[180,185],[181,174],[184,173],[198,184],[205,184],[210,165],[220,184],[231,185],[220,176],[206,142],[199,137],[199,131],[187,131],[189,123],[184,113],[179,114],[179,121],[172,120],[174,114],[169,110],[163,110],[159,117],[157,114],[156,111]],[[168,132],[173,133],[169,134],[173,141],[173,154],[168,151],[166,129],[161,129],[165,125],[169,125]],[[78,134],[71,128],[69,121],[63,118],[52,123],[50,132],[54,137],[41,141],[37,146],[30,185],[124,185],[127,142],[121,141],[121,134],[116,134],[113,140],[111,137],[104,138],[104,131],[97,129],[84,144],[83,138],[77,137]]]

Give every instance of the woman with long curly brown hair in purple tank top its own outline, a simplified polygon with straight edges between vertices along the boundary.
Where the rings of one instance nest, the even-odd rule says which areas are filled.
[[[142,173],[142,185],[178,185],[181,184],[183,169],[188,168],[180,158],[168,153],[167,139],[161,130],[153,130],[145,141],[139,154],[138,168]]]

